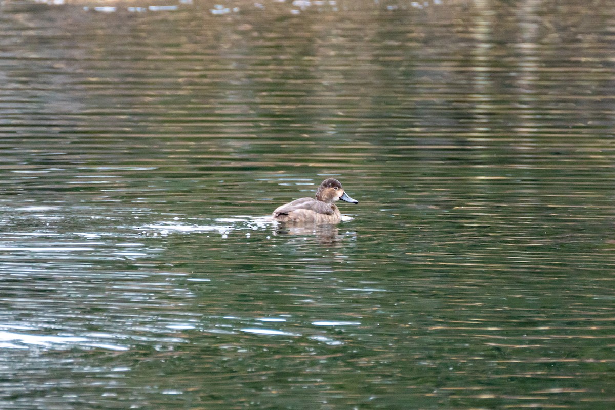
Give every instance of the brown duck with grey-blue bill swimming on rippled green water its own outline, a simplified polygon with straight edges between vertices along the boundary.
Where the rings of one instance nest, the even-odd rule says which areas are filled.
[[[336,224],[341,221],[338,207],[333,205],[338,199],[359,203],[344,192],[337,179],[325,179],[316,191],[316,199],[306,197],[280,205],[273,211],[273,219],[286,223]]]

